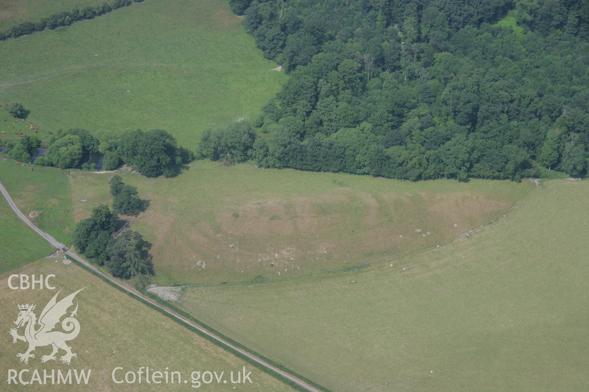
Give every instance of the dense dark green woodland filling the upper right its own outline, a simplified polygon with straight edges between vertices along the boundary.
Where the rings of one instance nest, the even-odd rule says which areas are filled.
[[[249,123],[204,132],[201,156],[409,180],[587,173],[589,0],[230,5],[290,78]]]

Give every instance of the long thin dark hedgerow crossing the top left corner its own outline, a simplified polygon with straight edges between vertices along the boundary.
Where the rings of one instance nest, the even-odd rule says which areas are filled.
[[[71,11],[56,12],[46,18],[41,18],[37,22],[27,21],[19,25],[12,26],[4,32],[0,32],[0,39],[16,38],[21,35],[30,34],[35,31],[44,29],[55,29],[59,26],[68,26],[75,21],[82,19],[92,19],[95,16],[106,14],[114,9],[131,5],[133,2],[142,2],[143,0],[111,0],[104,2],[102,5],[89,5],[82,9],[74,8]]]

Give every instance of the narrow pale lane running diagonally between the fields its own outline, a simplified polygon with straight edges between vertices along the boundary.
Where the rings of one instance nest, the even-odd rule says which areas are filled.
[[[2,183],[0,182],[0,191],[2,192],[2,195],[4,195],[4,198],[6,199],[6,201],[8,202],[8,204],[10,205],[10,207],[12,208],[12,210],[16,213],[16,215],[18,215],[19,218],[21,218],[21,220],[25,223],[27,223],[27,225],[29,227],[31,227],[31,229],[35,230],[35,232],[37,232],[41,237],[43,237],[44,239],[46,239],[52,246],[58,248],[58,249],[65,249],[65,245],[58,242],[57,240],[54,239],[54,237],[50,236],[49,234],[45,233],[44,231],[42,231],[41,229],[39,229],[39,227],[33,225],[31,223],[30,220],[27,219],[27,217],[21,212],[21,210],[18,209],[18,207],[16,207],[14,201],[12,201],[12,197],[10,197],[10,195],[8,194],[8,191],[6,191],[6,188],[4,187],[4,185],[2,185]],[[158,308],[160,308],[161,310],[165,311],[166,313],[170,314],[170,316],[173,316],[174,318],[176,318],[177,320],[182,321],[184,324],[187,324],[193,328],[196,328],[197,330],[201,331],[202,333],[206,334],[207,336],[211,337],[212,339],[218,341],[219,343],[223,344],[224,346],[230,347],[231,349],[237,351],[238,353],[240,353],[241,355],[249,358],[250,360],[262,365],[263,367],[272,370],[274,373],[279,374],[280,376],[286,378],[289,381],[292,381],[293,383],[305,388],[307,391],[311,391],[311,392],[321,392],[321,390],[319,388],[313,387],[310,384],[305,383],[305,381],[303,380],[299,380],[299,378],[296,378],[294,376],[291,376],[289,373],[286,373],[286,371],[280,370],[277,367],[272,366],[271,364],[267,363],[266,361],[259,359],[258,357],[248,353],[245,350],[240,349],[237,346],[234,346],[233,344],[229,343],[229,341],[226,341],[224,339],[221,339],[219,336],[216,336],[215,334],[213,334],[212,332],[204,329],[203,327],[192,323],[190,320],[184,319],[184,317],[180,317],[177,314],[171,312],[170,310],[166,309],[166,307],[160,306],[160,304],[151,301],[149,298],[145,298],[143,296],[138,295],[137,293],[133,292],[132,290],[128,289],[127,287],[125,287],[123,284],[118,283],[116,280],[112,279],[110,276],[107,276],[103,273],[101,273],[100,271],[98,271],[97,269],[95,269],[94,266],[92,266],[90,263],[88,263],[86,260],[82,259],[82,257],[78,256],[77,254],[75,254],[74,252],[70,252],[70,250],[65,250],[65,254],[67,254],[68,256],[72,257],[72,259],[77,260],[78,262],[84,264],[84,266],[88,267],[89,269],[91,269],[92,271],[94,271],[95,273],[99,274],[100,276],[104,277],[105,279],[110,280],[110,282],[116,284],[118,287],[120,287],[121,289],[125,290],[126,292],[129,292],[131,294],[133,294],[133,296],[138,297],[140,299],[146,300],[148,302],[150,302],[151,304],[153,304],[154,306],[157,306]]]

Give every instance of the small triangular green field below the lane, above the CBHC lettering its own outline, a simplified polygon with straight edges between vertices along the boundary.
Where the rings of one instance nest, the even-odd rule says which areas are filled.
[[[53,247],[25,225],[0,195],[0,273],[45,257]]]

